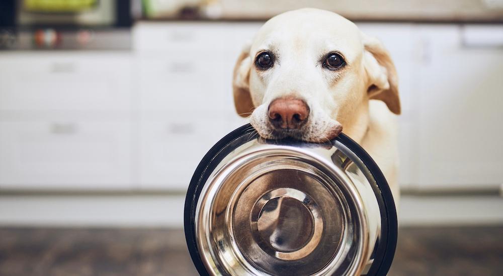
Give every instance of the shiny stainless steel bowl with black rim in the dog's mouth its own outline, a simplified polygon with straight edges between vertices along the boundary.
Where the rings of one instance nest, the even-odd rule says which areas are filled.
[[[384,176],[344,134],[312,144],[236,129],[203,158],[185,203],[202,275],[384,275],[396,232]]]

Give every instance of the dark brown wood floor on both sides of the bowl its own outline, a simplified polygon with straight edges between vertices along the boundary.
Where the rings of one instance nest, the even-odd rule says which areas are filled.
[[[183,232],[0,228],[0,275],[197,275]],[[402,228],[389,275],[503,275],[503,227]]]

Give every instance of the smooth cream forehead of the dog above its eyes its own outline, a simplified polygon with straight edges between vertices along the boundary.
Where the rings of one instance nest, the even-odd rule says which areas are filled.
[[[313,49],[341,51],[347,58],[362,49],[358,27],[338,14],[317,9],[301,9],[280,14],[264,24],[251,47],[262,49]],[[281,53],[280,53],[281,54]]]

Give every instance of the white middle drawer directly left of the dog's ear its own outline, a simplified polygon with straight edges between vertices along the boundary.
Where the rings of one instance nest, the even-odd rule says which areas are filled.
[[[218,60],[192,56],[140,61],[143,110],[200,111],[222,109],[231,98],[231,67]],[[218,58],[217,58],[218,59]]]

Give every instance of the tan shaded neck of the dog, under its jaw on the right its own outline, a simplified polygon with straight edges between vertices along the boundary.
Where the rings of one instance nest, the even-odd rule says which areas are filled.
[[[351,116],[345,118],[346,120],[343,118],[339,120],[343,125],[343,133],[357,143],[361,143],[369,129],[370,112],[368,101],[359,105],[351,112]]]

